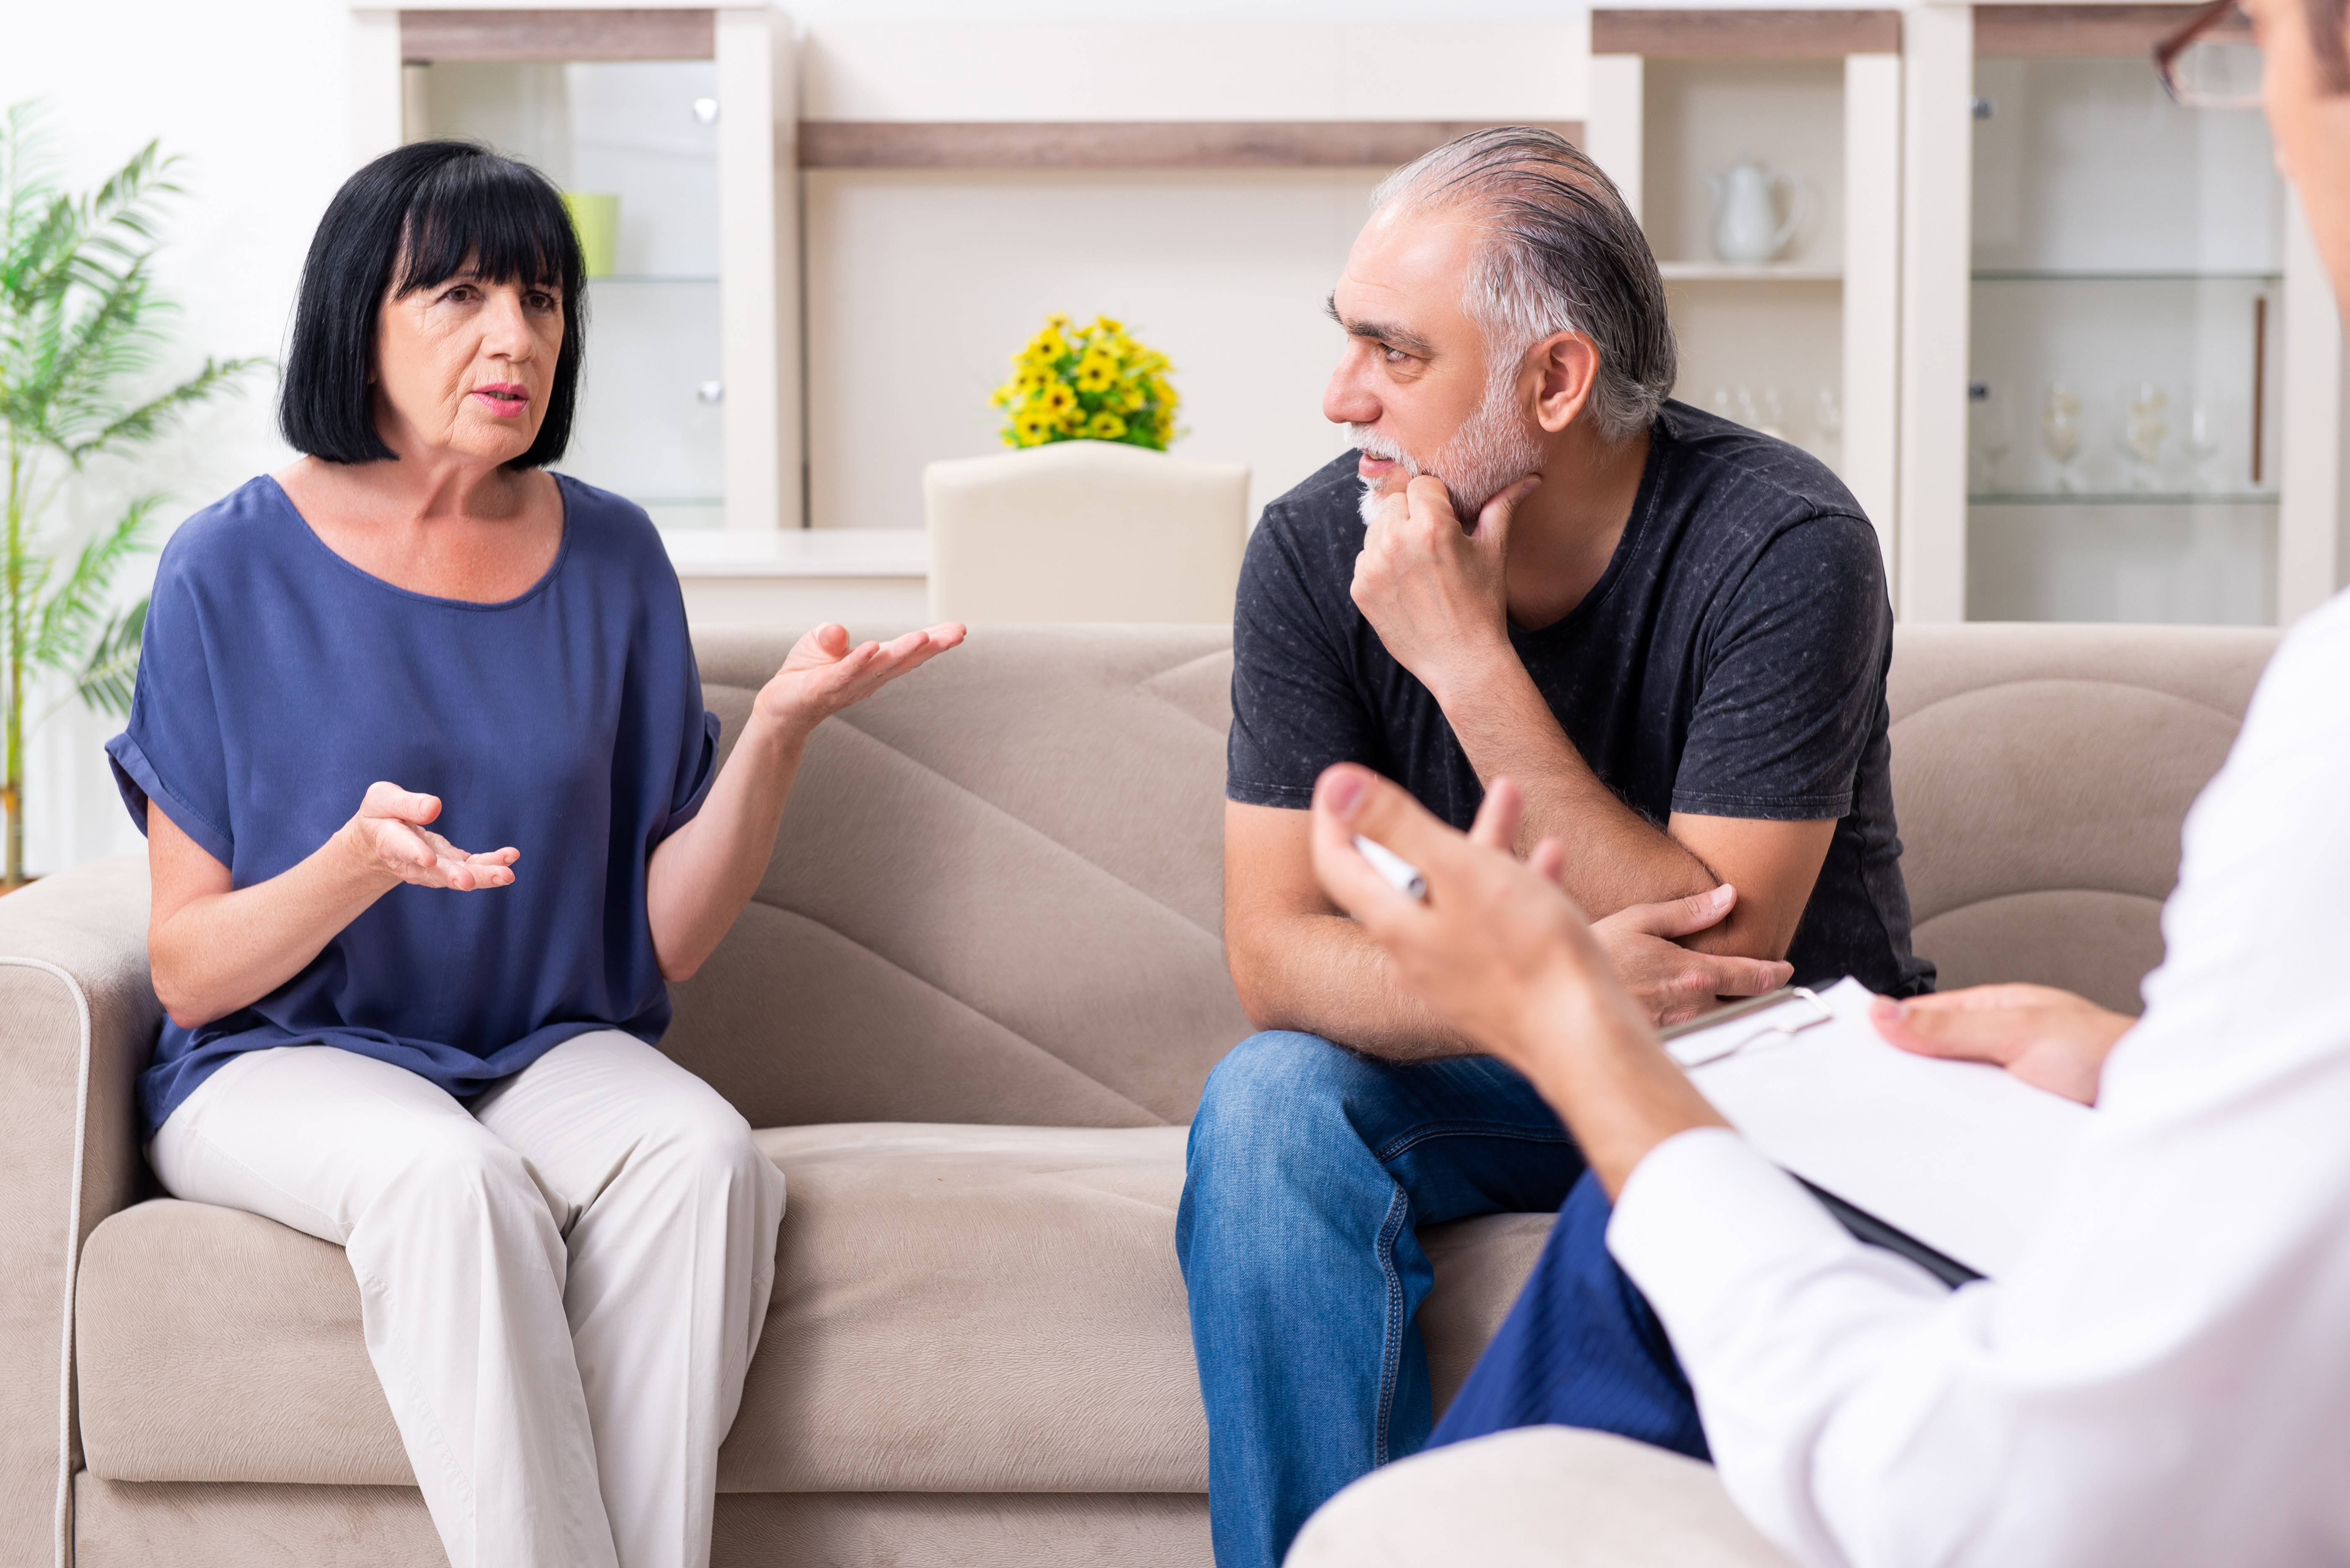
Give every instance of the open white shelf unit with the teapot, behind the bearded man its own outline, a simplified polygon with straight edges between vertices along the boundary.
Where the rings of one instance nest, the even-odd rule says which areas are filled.
[[[1676,397],[1824,458],[1899,523],[1899,146],[1894,12],[1593,12],[1586,146],[1640,214],[1680,338]],[[1713,256],[1706,176],[1795,174],[1807,214],[1777,261]]]

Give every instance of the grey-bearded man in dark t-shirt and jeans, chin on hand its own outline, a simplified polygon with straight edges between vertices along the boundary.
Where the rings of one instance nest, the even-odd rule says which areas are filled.
[[[1314,880],[1307,805],[1368,763],[1523,843],[1652,1019],[1800,979],[1908,995],[1875,530],[1802,451],[1666,401],[1657,263],[1535,129],[1382,185],[1330,296],[1356,451],[1264,509],[1234,624],[1224,934],[1250,1019],[1208,1080],[1177,1225],[1224,1568],[1426,1441],[1415,1225],[1556,1209],[1542,1096],[1394,979]],[[1676,944],[1685,939],[1685,944]],[[1636,1359],[1638,1361],[1638,1359]],[[1610,1420],[1701,1451],[1676,1390]]]

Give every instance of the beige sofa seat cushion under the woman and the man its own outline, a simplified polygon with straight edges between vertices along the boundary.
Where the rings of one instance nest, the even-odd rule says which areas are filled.
[[[724,1491],[1206,1491],[1180,1127],[759,1141],[787,1211]],[[1546,1232],[1546,1214],[1422,1232],[1438,1399]],[[136,1204],[89,1237],[78,1317],[94,1476],[411,1483],[341,1249],[235,1209]]]

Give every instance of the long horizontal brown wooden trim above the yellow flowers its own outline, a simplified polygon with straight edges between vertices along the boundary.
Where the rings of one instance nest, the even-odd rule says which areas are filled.
[[[1394,169],[1495,120],[801,120],[801,169]],[[1549,120],[1582,146],[1579,120]]]

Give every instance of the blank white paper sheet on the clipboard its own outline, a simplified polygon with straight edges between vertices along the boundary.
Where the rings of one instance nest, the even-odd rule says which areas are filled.
[[[1774,1026],[1817,1016],[1802,998],[1666,1049],[1699,1063],[1690,1080],[1767,1160],[1981,1275],[2012,1270],[2096,1113],[2000,1068],[1887,1045],[1859,981],[1819,1000],[1833,1016],[1791,1035]]]

